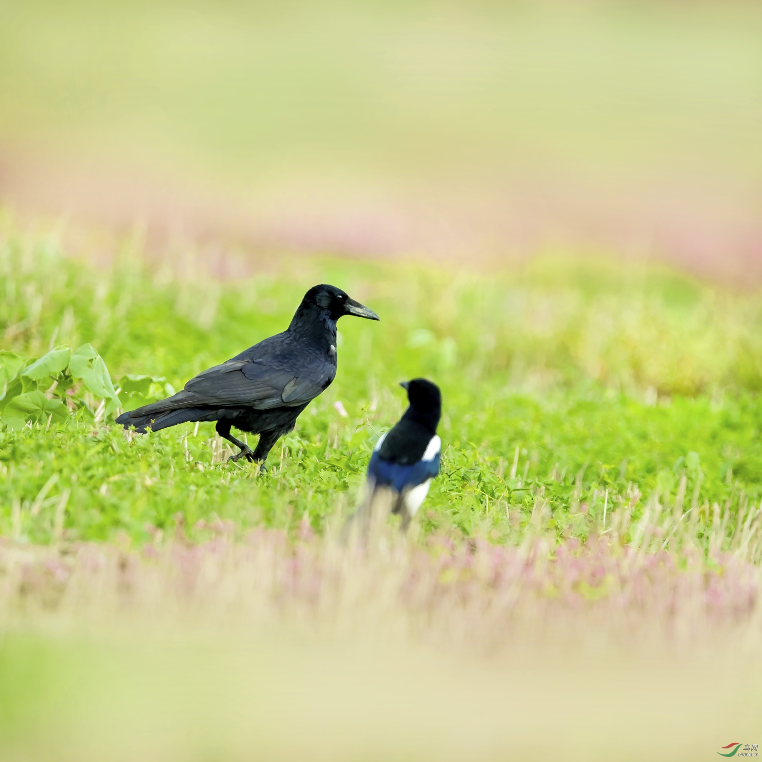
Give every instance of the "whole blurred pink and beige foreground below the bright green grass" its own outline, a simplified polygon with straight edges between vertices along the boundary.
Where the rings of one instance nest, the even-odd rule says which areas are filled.
[[[762,573],[740,549],[232,530],[3,543],[2,758],[689,760],[756,740]]]

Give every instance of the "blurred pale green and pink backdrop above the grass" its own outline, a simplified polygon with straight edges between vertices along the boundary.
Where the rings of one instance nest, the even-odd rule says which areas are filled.
[[[10,0],[0,194],[259,248],[561,239],[742,271],[760,22],[724,2]]]

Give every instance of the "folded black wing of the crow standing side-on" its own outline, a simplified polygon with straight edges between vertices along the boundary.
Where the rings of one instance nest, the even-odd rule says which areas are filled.
[[[244,405],[257,410],[299,407],[319,395],[331,383],[335,372],[335,367],[327,362],[306,367],[296,375],[285,363],[272,360],[228,360],[199,373],[169,399],[139,408],[139,413],[197,405]]]

